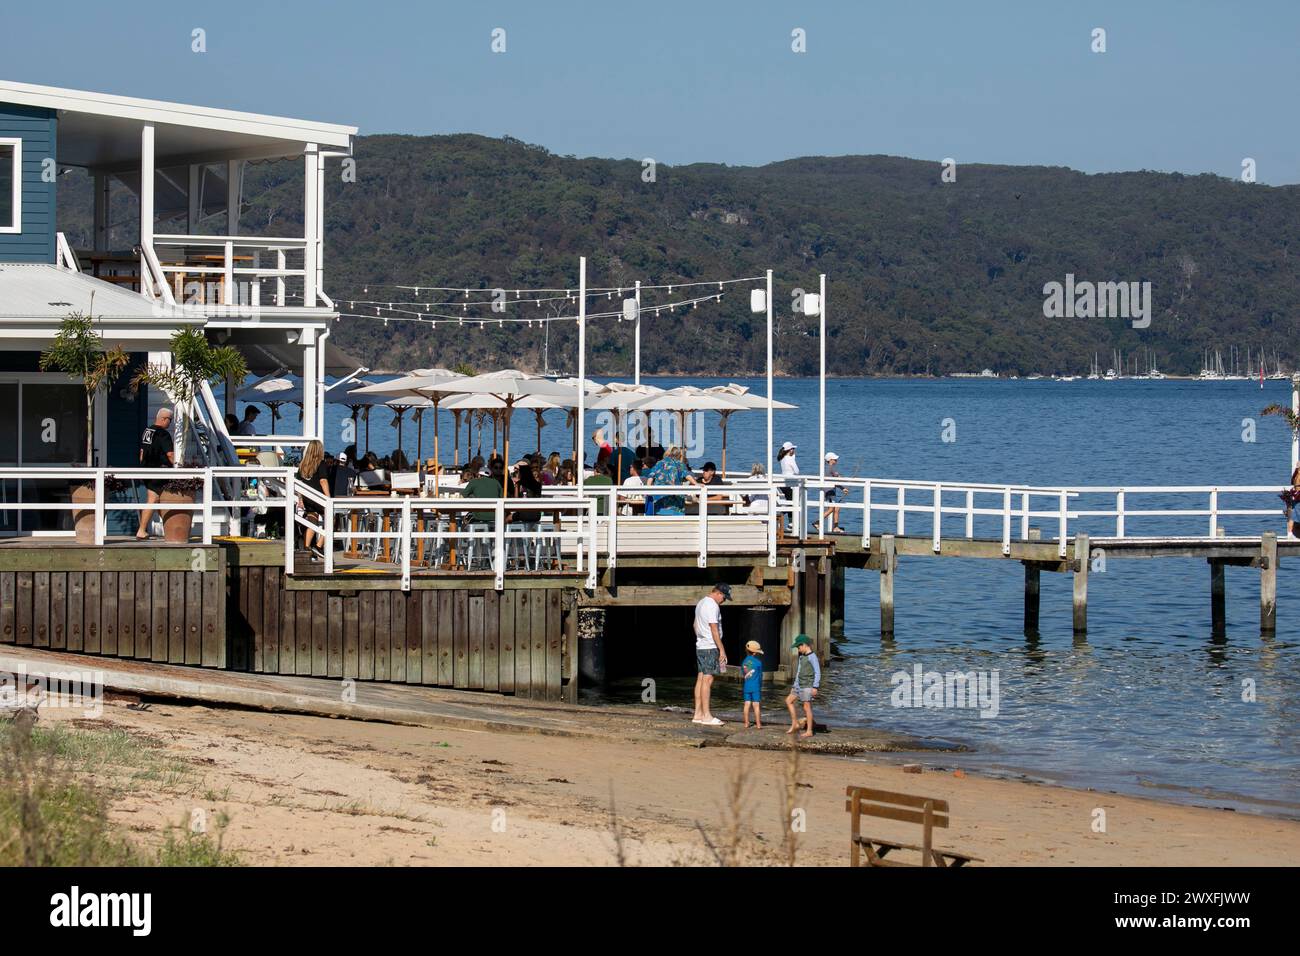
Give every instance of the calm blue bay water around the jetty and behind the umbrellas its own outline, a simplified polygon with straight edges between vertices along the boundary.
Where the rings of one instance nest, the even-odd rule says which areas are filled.
[[[742,384],[763,390],[762,381]],[[777,412],[776,440],[797,442],[803,471],[815,472],[816,381],[777,380],[776,397],[801,406]],[[1280,489],[1290,434],[1258,412],[1288,398],[1287,382],[1261,390],[1257,382],[836,380],[827,384],[828,447],[840,454],[845,475]],[[347,414],[332,407],[328,429],[338,429]],[[370,447],[381,453],[395,442],[387,418],[377,412],[370,421]],[[563,414],[550,418],[543,450],[563,450],[571,441]],[[716,415],[706,418],[705,457],[720,458]],[[941,440],[945,419],[956,424],[956,442]],[[1243,419],[1257,423],[1253,444],[1242,440]],[[760,411],[733,416],[731,468],[763,460],[764,421]],[[450,416],[441,428],[450,458]],[[488,434],[490,444],[490,425]],[[425,436],[428,455],[432,421]],[[410,428],[404,438],[413,450]],[[534,446],[533,416],[516,414],[512,450]],[[1275,503],[1277,519],[1222,523],[1230,533],[1284,531]],[[956,533],[961,522],[952,520]],[[855,516],[845,523],[861,528]],[[1052,536],[1050,523],[1035,524]],[[911,533],[928,527],[909,519]],[[984,533],[997,532],[989,525]],[[1278,631],[1268,640],[1258,630],[1258,572],[1249,568],[1227,570],[1226,640],[1210,636],[1204,561],[1108,562],[1089,579],[1086,643],[1071,633],[1070,588],[1069,575],[1043,575],[1041,636],[1027,641],[1018,563],[904,558],[896,635],[883,644],[878,578],[849,571],[846,632],[835,645],[819,713],[832,724],[872,724],[975,749],[945,754],[945,766],[1300,816],[1300,562],[1280,567]],[[927,671],[997,670],[998,715],[890,706],[890,675],[915,663]],[[1254,702],[1242,700],[1247,680],[1254,683]],[[677,702],[689,705],[689,693]],[[777,702],[774,691],[768,709]]]

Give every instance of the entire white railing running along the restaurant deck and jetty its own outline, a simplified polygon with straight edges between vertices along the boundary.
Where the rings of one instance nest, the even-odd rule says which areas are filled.
[[[114,479],[133,485],[195,479],[199,490],[192,502],[150,505],[139,497],[121,501],[109,494]],[[30,483],[58,483],[68,489],[69,499],[51,499],[48,486],[35,489],[38,499],[25,499],[32,490]],[[74,501],[74,486],[90,490],[83,499]],[[826,498],[832,488],[838,489],[833,502]],[[1044,488],[781,476],[741,477],[725,485],[585,485],[582,497],[572,485],[546,488],[542,498],[467,499],[455,489],[443,489],[442,497],[328,497],[299,481],[291,468],[244,466],[0,468],[0,490],[4,492],[0,512],[92,512],[96,545],[104,544],[108,515],[114,511],[192,511],[198,540],[211,544],[222,525],[240,528],[255,512],[282,510],[285,567],[290,574],[296,532],[311,529],[326,544],[324,571],[335,570],[337,545],[369,542],[376,555],[381,548],[389,555],[395,553],[391,563],[400,570],[404,589],[410,588],[413,561],[424,551],[433,555],[428,563],[437,566],[451,549],[472,557],[464,564],[467,568],[474,570],[477,563],[481,570],[491,570],[498,589],[511,564],[541,571],[543,563],[568,566],[569,562],[586,575],[588,587],[595,587],[597,562],[602,557],[607,567],[616,567],[620,555],[694,553],[698,566],[706,567],[711,554],[766,551],[767,563],[775,566],[779,529],[788,527],[794,540],[826,537],[831,532],[824,520],[829,507],[861,518],[861,527],[852,533],[861,535],[864,550],[871,549],[872,535],[905,536],[919,524],[936,553],[945,537],[979,537],[1000,538],[1002,553],[1010,554],[1013,541],[1032,540],[1031,531],[1037,529],[1041,540],[1056,542],[1062,558],[1079,533],[1087,533],[1097,544],[1254,538],[1262,531],[1277,531],[1282,518],[1279,489],[1273,485]],[[14,501],[8,501],[9,494],[16,496]],[[662,502],[666,497],[684,498],[684,512],[628,514],[646,498]],[[463,514],[476,511],[490,514],[491,520],[460,520]],[[321,515],[322,520],[313,522],[308,512]],[[537,519],[519,520],[528,512],[536,512]],[[352,527],[354,515],[369,520]],[[515,520],[507,522],[508,516]]]

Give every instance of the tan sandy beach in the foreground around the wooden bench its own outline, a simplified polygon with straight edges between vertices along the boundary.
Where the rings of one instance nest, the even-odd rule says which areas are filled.
[[[226,849],[254,865],[785,864],[785,793],[803,822],[798,865],[848,862],[848,784],[952,805],[936,844],[984,865],[1292,865],[1300,823],[1019,780],[701,745],[656,715],[581,737],[412,727],[110,698],[100,719],[183,767],[174,783],[118,792],[112,818],[142,842],[198,816],[226,821]],[[593,714],[593,726],[599,727]],[[689,723],[688,723],[689,728]],[[790,786],[793,779],[793,787]],[[1105,831],[1096,831],[1104,812]],[[916,829],[874,822],[914,842]]]

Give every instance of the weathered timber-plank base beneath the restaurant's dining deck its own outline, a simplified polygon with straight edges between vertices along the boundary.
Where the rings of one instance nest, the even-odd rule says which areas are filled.
[[[403,588],[391,566],[325,574],[306,555],[285,574],[276,541],[124,538],[95,548],[12,538],[0,542],[0,644],[573,700],[584,676],[603,680],[607,644],[645,639],[620,615],[676,622],[689,657],[689,615],[719,580],[732,584],[725,614],[736,659],[742,637],[763,636],[770,659],[788,665],[801,632],[826,657],[833,544],[810,544],[803,570],[794,567],[798,549],[780,550],[777,567],[766,551],[716,555],[703,568],[696,554],[623,557],[618,574],[602,564],[594,589],[577,571],[511,571],[500,589],[491,571],[426,571]],[[745,620],[751,611],[758,626]],[[656,644],[664,650],[664,640]]]

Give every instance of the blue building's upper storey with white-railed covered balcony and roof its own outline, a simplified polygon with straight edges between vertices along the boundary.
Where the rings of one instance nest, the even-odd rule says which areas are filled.
[[[350,156],[355,134],[0,81],[0,261],[55,263],[160,306],[190,306],[214,326],[322,319],[334,307],[324,291],[325,163]],[[304,164],[302,204],[272,235],[240,221],[255,199],[247,164],[261,160]],[[56,209],[77,219],[70,200],[86,207],[79,230],[56,222]]]

